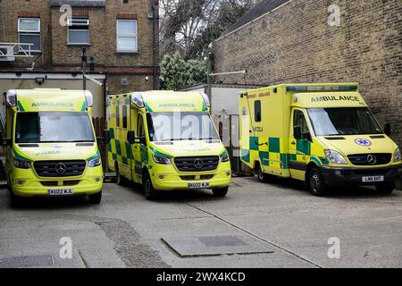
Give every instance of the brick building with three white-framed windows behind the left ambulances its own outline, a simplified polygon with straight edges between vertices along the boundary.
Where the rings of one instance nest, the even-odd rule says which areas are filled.
[[[70,5],[71,13],[68,6]],[[88,55],[94,112],[105,116],[107,94],[158,88],[157,0],[0,0],[0,91],[82,88],[81,55]],[[21,49],[30,57],[21,57]],[[20,52],[19,52],[20,51]],[[19,56],[20,55],[20,56]]]

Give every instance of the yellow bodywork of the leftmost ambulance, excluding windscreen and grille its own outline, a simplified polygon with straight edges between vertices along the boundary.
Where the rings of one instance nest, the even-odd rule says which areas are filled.
[[[96,142],[76,143],[15,143],[15,122],[17,114],[32,112],[67,112],[87,114],[92,125],[91,107],[87,105],[82,90],[62,89],[27,89],[13,90],[16,94],[16,106],[6,107],[6,134],[13,144],[6,147],[7,182],[13,193],[19,197],[46,197],[50,189],[72,189],[73,196],[93,195],[103,188],[104,172],[102,164],[88,167],[88,160],[96,158],[99,150]],[[73,128],[73,127],[72,127]],[[29,169],[15,167],[14,159],[29,163]],[[80,175],[46,177],[39,176],[35,164],[38,162],[85,162],[85,169]]]

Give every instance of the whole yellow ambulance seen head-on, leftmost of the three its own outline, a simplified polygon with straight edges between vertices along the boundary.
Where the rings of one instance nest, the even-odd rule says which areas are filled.
[[[21,197],[102,198],[103,169],[89,91],[9,90],[5,93],[7,184],[12,206]]]

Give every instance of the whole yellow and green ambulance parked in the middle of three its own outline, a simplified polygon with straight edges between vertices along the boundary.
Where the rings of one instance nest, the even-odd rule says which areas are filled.
[[[158,191],[212,189],[226,196],[230,158],[209,114],[203,92],[147,91],[107,100],[111,143],[108,165],[117,181],[142,185],[147,199]]]

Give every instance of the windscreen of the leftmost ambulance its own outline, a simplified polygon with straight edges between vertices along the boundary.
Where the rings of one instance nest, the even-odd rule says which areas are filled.
[[[15,126],[16,143],[95,142],[86,113],[19,113]]]

